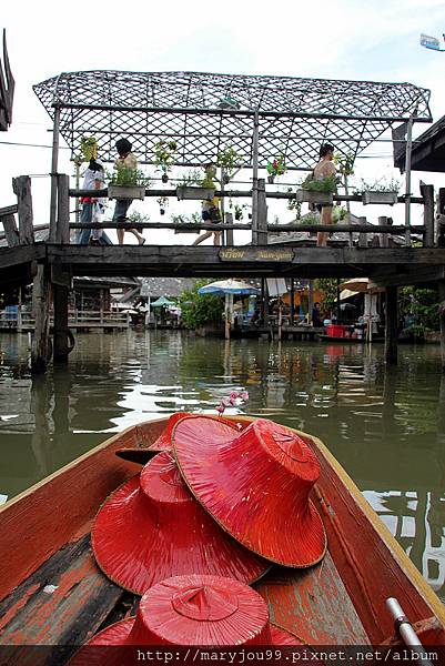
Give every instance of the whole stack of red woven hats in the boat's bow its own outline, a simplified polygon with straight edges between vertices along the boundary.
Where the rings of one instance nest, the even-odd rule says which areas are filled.
[[[175,414],[150,448],[92,529],[99,566],[143,595],[140,609],[94,644],[301,643],[270,625],[247,585],[272,563],[306,567],[325,554],[309,497],[320,466],[304,440],[261,418]]]

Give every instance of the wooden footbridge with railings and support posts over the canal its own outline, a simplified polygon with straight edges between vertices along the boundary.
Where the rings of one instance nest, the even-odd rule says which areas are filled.
[[[74,275],[90,276],[249,276],[249,278],[371,278],[380,286],[386,287],[386,360],[395,362],[397,356],[397,286],[405,284],[436,283],[439,299],[445,301],[445,225],[443,218],[436,219],[434,189],[423,185],[422,198],[411,198],[409,204],[424,208],[424,224],[400,225],[380,218],[378,225],[370,225],[365,219],[361,224],[336,224],[335,231],[347,234],[347,241],[337,246],[315,248],[314,241],[305,245],[292,242],[269,244],[270,234],[299,231],[333,231],[333,226],[304,224],[267,224],[266,194],[264,181],[259,180],[257,215],[250,224],[233,224],[231,216],[220,225],[200,224],[201,229],[223,232],[222,246],[184,245],[79,245],[70,241],[71,231],[80,228],[98,228],[98,224],[70,223],[70,198],[82,193],[69,190],[68,176],[59,175],[58,213],[49,228],[47,242],[34,242],[32,221],[31,185],[28,176],[16,179],[17,204],[0,209],[8,246],[0,248],[0,281],[3,285],[29,284],[33,282],[34,297],[40,304],[36,311],[36,344],[33,367],[44,370],[48,363],[48,336],[50,310],[53,303],[54,360],[67,361],[69,343],[68,330],[71,326],[68,314],[68,291]],[[163,191],[165,192],[165,191]],[[107,191],[99,192],[107,195]],[[155,196],[158,191],[146,191]],[[169,192],[174,195],[174,191]],[[224,196],[224,191],[219,192]],[[252,195],[240,192],[239,195]],[[283,193],[280,193],[282,196]],[[273,196],[273,194],[272,194]],[[290,196],[290,195],[287,195]],[[441,191],[441,196],[444,192]],[[344,195],[342,196],[344,200]],[[360,201],[358,196],[348,196]],[[405,205],[406,198],[400,203]],[[18,224],[16,216],[18,216]],[[113,222],[104,228],[115,228]],[[145,229],[173,228],[178,224],[143,225]],[[189,225],[189,228],[193,228]],[[252,233],[250,245],[234,245],[233,231],[249,230]],[[355,234],[356,241],[353,241]],[[404,245],[390,246],[391,239],[401,236]],[[412,236],[417,240],[415,246]],[[422,239],[419,241],[418,239]],[[445,323],[442,320],[443,365],[445,367]]]

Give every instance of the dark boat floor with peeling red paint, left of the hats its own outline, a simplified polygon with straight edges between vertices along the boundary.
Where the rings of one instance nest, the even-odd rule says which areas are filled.
[[[134,602],[99,569],[87,535],[55,553],[0,605],[0,645],[17,646],[10,663],[23,666],[38,663],[38,649],[30,646],[45,646],[43,663],[59,666],[110,615],[119,610],[121,618],[121,602],[130,596]]]

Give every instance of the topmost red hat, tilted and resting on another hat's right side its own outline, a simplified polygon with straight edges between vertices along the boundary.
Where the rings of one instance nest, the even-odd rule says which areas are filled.
[[[236,432],[189,416],[176,423],[172,443],[193,495],[236,541],[284,566],[322,559],[326,534],[309,498],[320,465],[294,431],[259,418]]]

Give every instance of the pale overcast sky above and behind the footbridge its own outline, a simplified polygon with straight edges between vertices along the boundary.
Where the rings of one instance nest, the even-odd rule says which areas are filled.
[[[50,145],[51,122],[31,87],[62,71],[182,70],[409,82],[431,89],[434,120],[445,113],[445,53],[419,46],[421,32],[442,40],[444,0],[4,4],[0,27],[7,29],[17,89],[12,127],[0,133],[0,205],[13,202],[13,175],[36,174],[36,223],[48,222],[49,179],[38,175],[48,174],[51,151],[8,143]],[[415,135],[426,127],[415,125]],[[367,154],[383,158],[358,160],[358,178],[397,174],[390,143],[375,143]],[[60,171],[72,173],[68,158],[69,151],[61,151]],[[415,173],[414,193],[419,178],[444,185],[439,175]],[[354,212],[361,214],[360,208]],[[139,209],[160,219],[153,203]],[[291,215],[284,204],[282,211],[283,220]],[[148,242],[190,242],[172,233],[156,232]],[[125,236],[125,242],[133,240]]]

